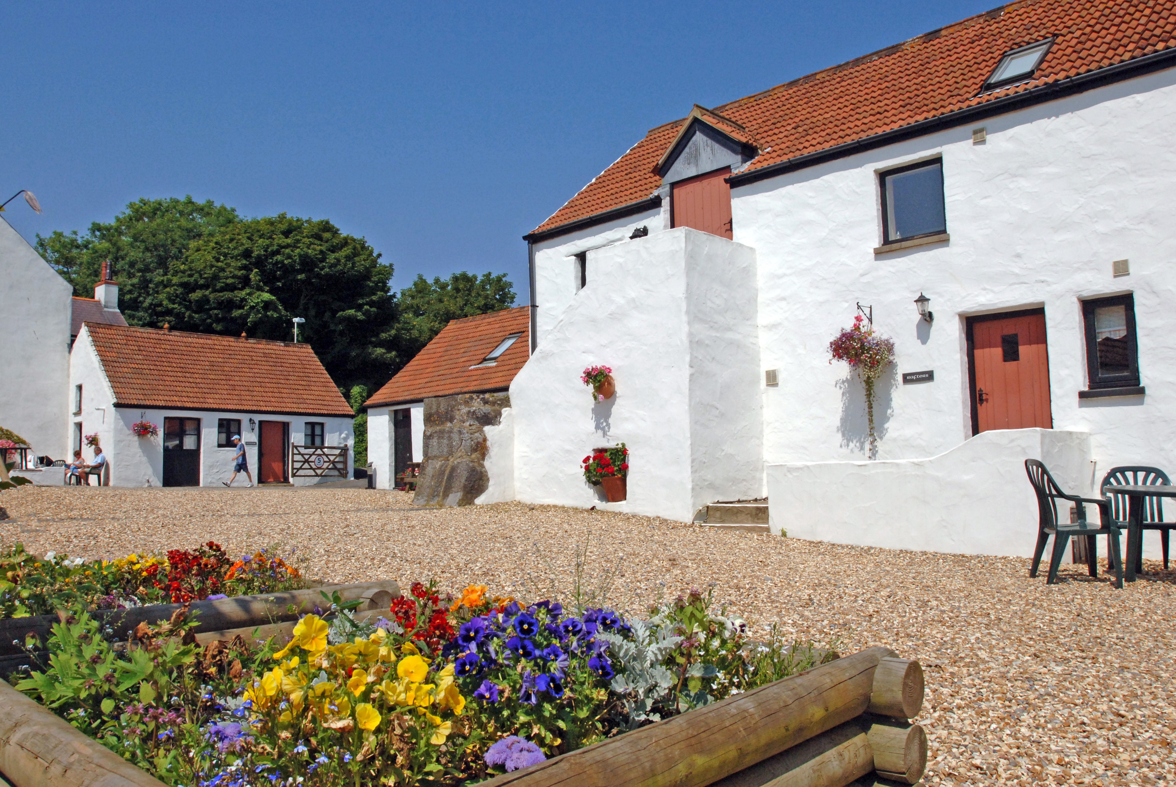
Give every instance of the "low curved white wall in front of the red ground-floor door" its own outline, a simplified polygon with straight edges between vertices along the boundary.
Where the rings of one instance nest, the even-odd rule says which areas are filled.
[[[1067,493],[1091,495],[1089,433],[1002,429],[929,459],[769,465],[771,531],[888,549],[1031,556],[1037,498],[1025,459],[1044,462]],[[1069,516],[1068,503],[1058,515]],[[1088,507],[1088,515],[1097,512]],[[1144,554],[1157,556],[1158,535],[1145,541]],[[1121,543],[1125,549],[1125,538]],[[1098,551],[1105,556],[1104,540]]]

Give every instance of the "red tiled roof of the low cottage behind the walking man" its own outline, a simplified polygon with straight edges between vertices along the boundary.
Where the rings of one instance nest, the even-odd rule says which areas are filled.
[[[120,407],[352,415],[310,345],[87,322]]]

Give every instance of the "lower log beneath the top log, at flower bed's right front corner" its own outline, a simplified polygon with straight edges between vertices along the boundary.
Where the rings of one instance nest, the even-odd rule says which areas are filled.
[[[846,787],[874,773],[869,725],[861,716],[743,768],[713,787]]]

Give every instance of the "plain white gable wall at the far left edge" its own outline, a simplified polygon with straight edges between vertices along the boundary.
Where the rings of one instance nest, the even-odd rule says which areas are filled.
[[[0,426],[60,459],[69,406],[73,288],[0,218]]]

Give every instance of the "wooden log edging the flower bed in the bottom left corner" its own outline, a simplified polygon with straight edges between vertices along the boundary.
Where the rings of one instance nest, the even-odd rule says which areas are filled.
[[[15,787],[163,787],[2,681],[0,772]]]

